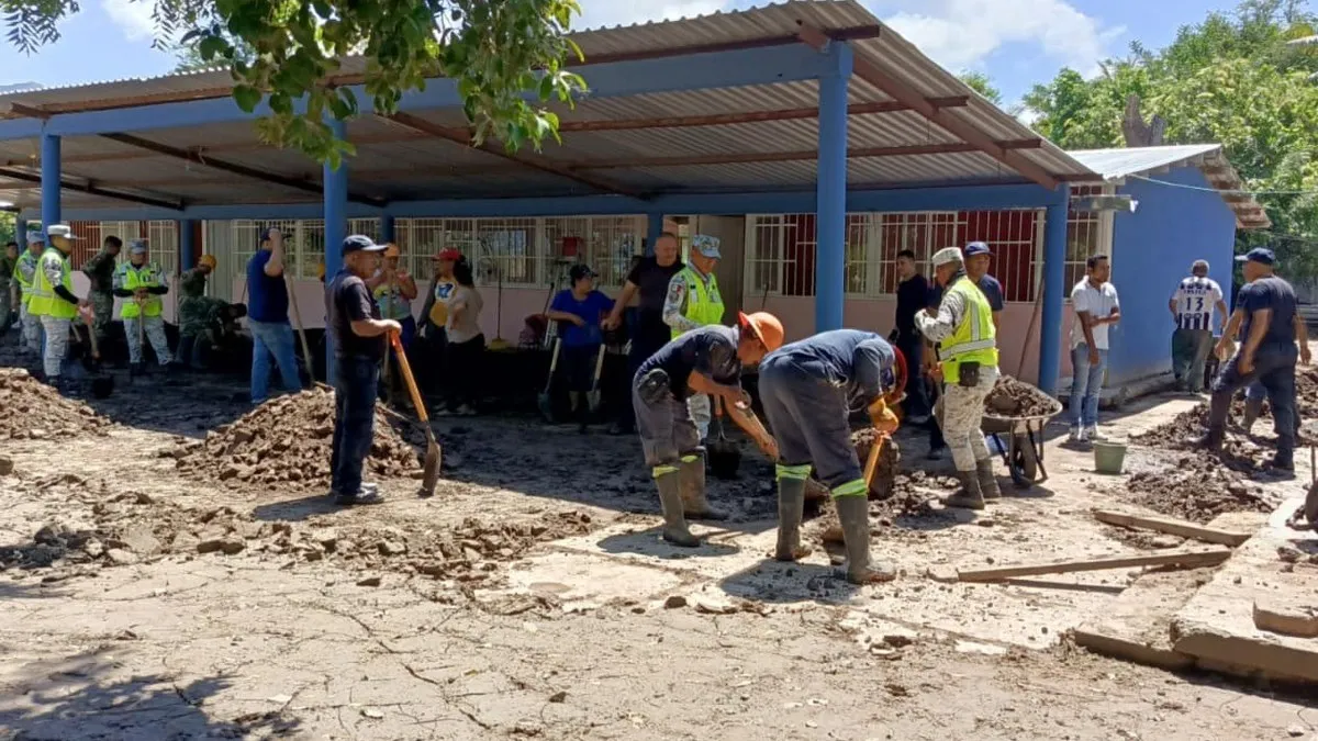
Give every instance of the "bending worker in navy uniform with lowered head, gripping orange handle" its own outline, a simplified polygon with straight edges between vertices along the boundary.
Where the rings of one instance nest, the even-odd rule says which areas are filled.
[[[759,396],[778,442],[778,547],[774,558],[796,560],[811,463],[829,487],[846,545],[846,580],[888,581],[891,564],[870,562],[870,487],[851,444],[850,410],[865,406],[880,435],[898,429],[888,393],[899,394],[902,363],[879,335],[859,330],[821,332],[783,345],[760,364]],[[882,444],[875,440],[874,444]]]

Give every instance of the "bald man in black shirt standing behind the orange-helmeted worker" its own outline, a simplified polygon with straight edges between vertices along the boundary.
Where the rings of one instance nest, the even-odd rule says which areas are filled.
[[[627,273],[627,282],[613,302],[613,311],[604,320],[605,330],[617,330],[622,324],[622,312],[631,303],[631,297],[639,294],[637,323],[631,334],[631,352],[627,353],[627,382],[635,377],[641,364],[672,339],[672,330],[663,323],[663,299],[668,295],[668,281],[681,272],[677,235],[664,232],[655,241],[654,256],[642,257]],[[635,426],[635,413],[630,403],[623,403],[618,411],[616,434],[629,434]]]

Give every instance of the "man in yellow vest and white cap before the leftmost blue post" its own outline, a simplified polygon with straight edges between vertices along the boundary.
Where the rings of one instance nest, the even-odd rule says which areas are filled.
[[[46,332],[46,347],[42,355],[42,365],[46,373],[46,382],[63,393],[76,392],[74,381],[61,376],[61,367],[65,355],[69,352],[69,330],[78,310],[90,306],[87,299],[74,295],[72,269],[69,264],[69,254],[74,251],[72,229],[69,224],[51,224],[46,227],[46,237],[50,245],[41,253],[41,264],[37,265],[36,282],[32,286],[32,303],[28,311],[41,319],[41,328]]]

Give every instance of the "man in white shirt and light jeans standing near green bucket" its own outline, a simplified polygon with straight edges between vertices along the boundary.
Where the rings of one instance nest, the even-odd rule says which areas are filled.
[[[1075,324],[1072,326],[1072,400],[1070,439],[1101,439],[1098,434],[1098,396],[1107,370],[1107,330],[1122,318],[1116,287],[1107,280],[1112,266],[1106,254],[1085,262],[1085,280],[1072,289]]]

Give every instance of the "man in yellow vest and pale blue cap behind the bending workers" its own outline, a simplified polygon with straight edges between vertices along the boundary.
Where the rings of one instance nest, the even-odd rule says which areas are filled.
[[[672,338],[724,320],[724,297],[718,293],[718,278],[714,270],[722,253],[718,252],[718,237],[696,235],[691,237],[691,257],[687,266],[668,281],[668,297],[663,302],[663,322],[672,327]],[[709,397],[695,394],[687,400],[691,415],[696,421],[700,439],[709,436]]]

